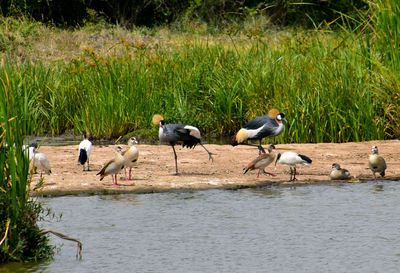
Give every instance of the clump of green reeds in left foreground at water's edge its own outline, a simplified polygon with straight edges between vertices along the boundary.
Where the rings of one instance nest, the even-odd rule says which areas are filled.
[[[44,210],[28,196],[29,160],[20,129],[25,122],[7,74],[2,70],[0,75],[0,263],[43,260],[53,248],[37,226]]]

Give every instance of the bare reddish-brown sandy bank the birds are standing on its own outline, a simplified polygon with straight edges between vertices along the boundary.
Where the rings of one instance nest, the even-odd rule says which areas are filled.
[[[207,153],[201,147],[194,149],[175,146],[178,155],[180,175],[175,175],[173,152],[167,145],[135,145],[139,150],[139,159],[132,169],[132,181],[123,180],[124,170],[118,175],[120,187],[113,187],[111,176],[99,181],[96,176],[103,164],[114,157],[114,148],[118,145],[94,145],[90,156],[91,171],[82,171],[77,162],[78,145],[42,146],[39,150],[47,155],[52,167],[51,175],[43,175],[44,184],[39,196],[97,195],[120,193],[155,193],[178,190],[204,190],[263,187],[269,185],[291,186],[289,167],[277,164],[269,165],[266,171],[276,177],[260,175],[257,171],[242,174],[242,169],[258,156],[256,147],[239,145],[204,144],[214,154],[214,162],[208,160]],[[298,166],[298,180],[293,185],[350,183],[372,181],[372,172],[368,169],[368,156],[371,147],[378,146],[379,153],[387,163],[386,176],[380,180],[400,180],[400,141],[368,141],[349,143],[317,144],[278,144],[275,153],[295,151],[309,156],[313,162],[309,166]],[[120,145],[124,149],[127,145]],[[266,145],[264,145],[265,147]],[[350,171],[352,179],[329,180],[328,174],[333,163]],[[31,188],[39,181],[39,174],[33,175]]]

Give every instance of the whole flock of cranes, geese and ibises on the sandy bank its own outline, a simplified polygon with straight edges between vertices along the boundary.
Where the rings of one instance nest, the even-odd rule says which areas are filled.
[[[207,150],[207,148],[201,142],[201,133],[197,127],[191,125],[185,125],[180,123],[167,124],[161,115],[154,115],[153,124],[159,125],[159,140],[161,144],[171,146],[174,154],[175,161],[175,175],[179,175],[178,171],[178,157],[175,151],[175,145],[182,145],[184,148],[195,148],[200,145],[208,154],[210,161],[213,161],[213,153]],[[243,128],[241,128],[231,139],[230,144],[232,146],[237,145],[252,145],[258,148],[258,156],[251,160],[250,163],[243,168],[243,174],[246,174],[252,170],[258,170],[257,178],[260,174],[276,176],[276,174],[265,171],[265,168],[275,162],[276,164],[287,165],[289,167],[289,182],[297,180],[297,167],[300,165],[309,165],[312,160],[303,154],[299,154],[295,151],[287,151],[283,153],[275,154],[277,149],[273,143],[275,137],[279,136],[284,132],[284,123],[287,123],[285,115],[276,109],[269,111],[268,115],[263,115],[254,118],[247,122]],[[92,153],[93,144],[87,137],[87,132],[83,131],[83,140],[78,146],[78,162],[82,165],[83,171],[90,171],[89,159]],[[268,146],[267,151],[262,147],[262,140],[270,137],[271,144]],[[249,143],[249,141],[258,141],[258,145]],[[135,137],[131,137],[128,140],[128,148],[123,149],[121,146],[116,147],[114,158],[107,161],[106,164],[97,173],[100,176],[100,181],[106,176],[111,176],[113,186],[118,187],[117,175],[124,169],[125,179],[132,180],[132,168],[135,166],[139,159],[139,151],[135,144],[138,141]],[[32,166],[40,171],[40,178],[43,173],[51,174],[50,162],[44,153],[38,151],[38,145],[33,143],[26,146],[25,152],[32,162]],[[85,168],[85,165],[87,166]],[[376,173],[380,174],[381,177],[385,176],[385,170],[387,168],[385,159],[379,155],[378,147],[372,146],[372,154],[369,156],[368,167],[372,172],[375,182],[378,184]],[[127,171],[129,175],[127,175]],[[332,180],[347,180],[351,179],[350,172],[346,169],[342,169],[338,163],[332,164],[332,170],[328,174]]]

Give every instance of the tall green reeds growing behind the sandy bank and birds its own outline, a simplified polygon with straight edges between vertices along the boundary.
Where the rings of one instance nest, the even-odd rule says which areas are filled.
[[[151,117],[161,113],[212,141],[275,107],[288,120],[278,142],[396,138],[399,79],[380,48],[366,47],[366,36],[378,37],[299,30],[121,36],[113,54],[85,47],[62,61],[6,57],[2,66],[25,134],[85,129],[94,138],[156,138]]]

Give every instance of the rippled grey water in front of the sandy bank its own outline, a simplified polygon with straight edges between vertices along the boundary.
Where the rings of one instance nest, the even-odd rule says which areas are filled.
[[[400,184],[44,199],[79,238],[9,272],[398,272]],[[52,237],[54,238],[54,237]],[[4,268],[3,268],[4,269]]]

